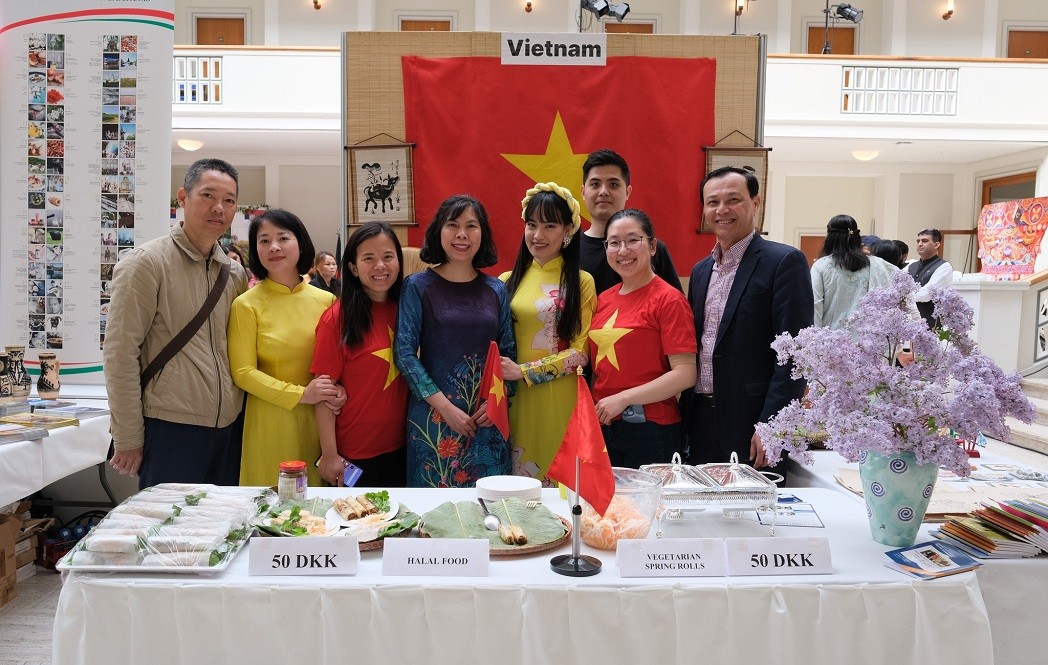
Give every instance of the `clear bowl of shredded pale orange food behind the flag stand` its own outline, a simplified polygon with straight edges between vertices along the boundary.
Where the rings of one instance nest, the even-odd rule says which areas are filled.
[[[578,535],[586,545],[614,550],[621,538],[645,538],[655,522],[662,497],[662,481],[654,473],[612,467],[615,495],[603,515],[585,501]]]

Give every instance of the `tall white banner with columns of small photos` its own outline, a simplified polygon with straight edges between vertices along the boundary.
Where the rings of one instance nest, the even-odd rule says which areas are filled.
[[[103,4],[0,0],[0,345],[64,382],[103,382],[113,269],[168,230],[174,2]]]

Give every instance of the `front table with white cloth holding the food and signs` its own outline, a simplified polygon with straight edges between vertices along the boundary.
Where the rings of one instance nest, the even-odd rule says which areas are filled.
[[[311,490],[337,493],[345,490]],[[801,489],[826,529],[833,575],[623,578],[549,569],[558,550],[493,558],[482,578],[384,577],[365,552],[355,577],[249,577],[247,551],[212,577],[66,576],[56,663],[952,663],[992,662],[979,582],[913,581],[883,566],[865,514],[837,492]],[[394,490],[416,512],[474,490]],[[544,502],[567,514],[546,490]],[[748,520],[676,523],[677,535],[760,535]],[[248,546],[248,549],[250,546]]]

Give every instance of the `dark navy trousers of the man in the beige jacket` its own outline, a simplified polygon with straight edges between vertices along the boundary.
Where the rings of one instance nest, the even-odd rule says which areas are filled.
[[[231,425],[206,427],[147,418],[138,488],[160,483],[239,484],[243,419],[241,411]],[[272,470],[274,483],[277,472]]]

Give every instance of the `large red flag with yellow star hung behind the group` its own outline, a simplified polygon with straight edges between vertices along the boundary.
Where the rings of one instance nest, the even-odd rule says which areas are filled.
[[[717,141],[714,59],[613,57],[585,67],[408,56],[402,69],[406,139],[415,143],[412,245],[421,245],[442,200],[472,194],[487,208],[499,249],[493,272],[509,270],[528,187],[552,180],[583,203],[586,156],[611,148],[630,164],[627,206],[651,216],[678,272],[713,248],[714,236],[696,231],[702,147]]]

